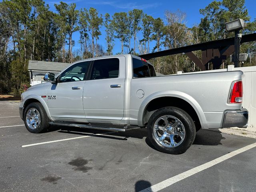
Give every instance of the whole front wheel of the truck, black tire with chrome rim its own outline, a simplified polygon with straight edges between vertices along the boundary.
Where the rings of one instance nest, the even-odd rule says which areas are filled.
[[[27,130],[31,133],[44,132],[49,127],[49,118],[39,102],[28,104],[23,119]]]

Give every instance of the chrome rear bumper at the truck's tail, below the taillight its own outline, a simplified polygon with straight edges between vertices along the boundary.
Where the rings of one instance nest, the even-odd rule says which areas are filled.
[[[240,110],[226,111],[222,128],[239,127],[247,128],[248,125],[248,110],[242,108]]]

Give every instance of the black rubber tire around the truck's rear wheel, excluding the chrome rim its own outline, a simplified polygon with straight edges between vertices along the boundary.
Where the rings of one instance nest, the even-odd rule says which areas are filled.
[[[166,147],[161,144],[154,135],[154,124],[162,116],[173,116],[183,124],[185,136],[184,140],[178,146]],[[148,121],[148,137],[157,150],[168,154],[182,154],[186,152],[194,142],[196,137],[196,126],[192,118],[184,110],[176,107],[165,107],[157,110],[150,117]]]

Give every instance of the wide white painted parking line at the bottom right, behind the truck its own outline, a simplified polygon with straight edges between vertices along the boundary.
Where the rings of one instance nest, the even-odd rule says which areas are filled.
[[[190,169],[188,171],[185,171],[185,172],[183,172],[181,174],[178,174],[176,176],[168,178],[168,179],[166,179],[166,180],[164,180],[164,181],[162,181],[162,182],[160,182],[158,184],[152,185],[151,187],[148,187],[148,188],[146,188],[144,190],[141,190],[140,192],[157,192],[157,191],[160,191],[160,190],[162,190],[162,189],[164,189],[164,188],[166,188],[168,186],[171,186],[172,184],[174,184],[174,183],[176,183],[176,182],[178,182],[180,180],[183,180],[183,179],[185,179],[185,178],[187,178],[189,176],[192,176],[192,175],[194,175],[194,174],[196,174],[198,172],[201,172],[201,171],[203,171],[203,170],[205,170],[207,168],[210,168],[210,167],[212,167],[212,166],[214,166],[214,165],[216,165],[216,164],[218,164],[218,163],[220,163],[220,162],[222,162],[224,160],[232,158],[233,156],[236,156],[236,155],[238,155],[238,154],[240,154],[242,152],[245,152],[245,151],[247,151],[249,149],[252,149],[254,147],[256,147],[256,143],[253,143],[253,144],[250,144],[248,146],[242,147],[242,148],[240,148],[238,150],[234,150],[234,151],[232,151],[232,152],[230,152],[230,153],[228,153],[226,155],[223,155],[223,156],[221,156],[219,158],[216,158],[216,159],[214,159],[212,161],[209,161],[209,162],[207,162],[205,164],[202,164],[202,165],[197,166],[195,168],[192,168],[192,169]]]

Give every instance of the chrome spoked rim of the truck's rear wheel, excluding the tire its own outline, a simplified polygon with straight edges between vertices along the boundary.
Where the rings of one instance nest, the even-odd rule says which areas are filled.
[[[158,118],[154,124],[154,136],[165,147],[176,147],[185,138],[186,130],[182,122],[171,115]]]

